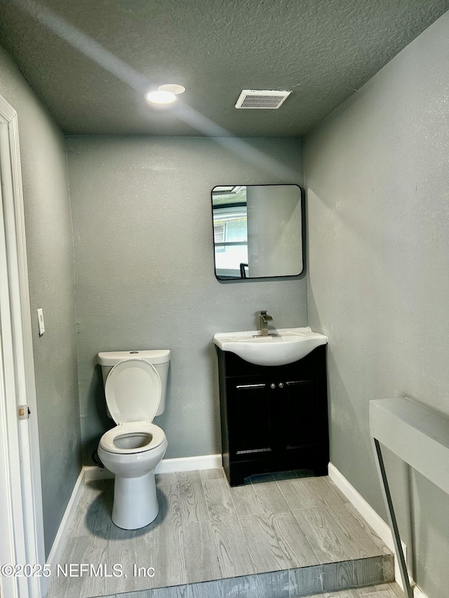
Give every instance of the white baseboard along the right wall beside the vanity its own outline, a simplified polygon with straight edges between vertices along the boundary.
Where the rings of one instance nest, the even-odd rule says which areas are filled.
[[[373,528],[377,536],[388,546],[391,552],[394,552],[393,535],[389,525],[387,525],[382,517],[375,512],[373,507],[363,498],[361,494],[356,491],[346,477],[332,464],[329,463],[329,477],[334,482],[335,486],[342,491],[348,501],[354,505],[354,508],[361,514],[363,519]],[[401,541],[404,557],[407,559],[407,546]],[[398,569],[398,559],[394,557],[394,577],[396,583],[402,587],[401,573]],[[427,598],[426,594],[422,592],[413,579],[410,578],[410,585],[413,585],[413,598]]]

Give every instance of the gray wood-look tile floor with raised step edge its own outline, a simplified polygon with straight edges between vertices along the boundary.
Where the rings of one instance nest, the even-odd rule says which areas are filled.
[[[159,515],[133,531],[112,523],[113,480],[89,482],[48,598],[403,596],[375,586],[394,578],[389,549],[328,477],[303,474],[158,475]]]

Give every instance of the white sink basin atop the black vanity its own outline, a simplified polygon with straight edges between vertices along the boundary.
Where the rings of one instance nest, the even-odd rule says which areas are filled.
[[[262,337],[260,330],[222,332],[214,334],[213,341],[222,351],[231,351],[255,365],[286,365],[326,345],[328,337],[307,327],[282,328],[267,337]]]

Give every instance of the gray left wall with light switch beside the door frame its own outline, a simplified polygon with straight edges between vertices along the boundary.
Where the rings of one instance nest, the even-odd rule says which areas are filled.
[[[67,159],[62,132],[3,48],[0,93],[18,112],[48,555],[81,469]],[[39,307],[46,324],[41,338]]]

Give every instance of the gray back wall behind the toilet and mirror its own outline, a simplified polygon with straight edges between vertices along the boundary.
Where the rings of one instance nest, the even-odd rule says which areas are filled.
[[[166,458],[220,452],[215,332],[307,325],[306,280],[219,283],[210,191],[302,183],[300,142],[69,137],[81,426],[86,463],[107,418],[98,351],[169,348]]]

